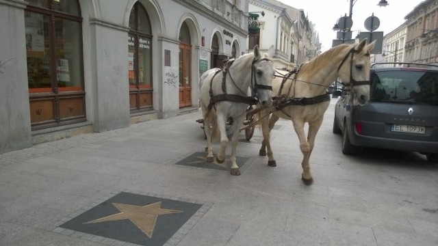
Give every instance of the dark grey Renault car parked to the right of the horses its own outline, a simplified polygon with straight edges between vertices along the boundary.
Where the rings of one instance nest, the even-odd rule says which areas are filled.
[[[372,64],[370,83],[366,105],[352,106],[350,92],[336,102],[333,133],[342,134],[342,153],[413,151],[438,163],[438,65]]]

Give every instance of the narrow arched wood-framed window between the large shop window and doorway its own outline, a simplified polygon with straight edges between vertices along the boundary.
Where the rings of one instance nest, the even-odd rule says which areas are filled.
[[[153,108],[152,29],[143,5],[136,3],[129,16],[128,81],[131,113]]]

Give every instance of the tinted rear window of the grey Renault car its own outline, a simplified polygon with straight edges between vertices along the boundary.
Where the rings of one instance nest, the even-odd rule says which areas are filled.
[[[438,105],[438,72],[372,72],[370,81],[370,102]]]

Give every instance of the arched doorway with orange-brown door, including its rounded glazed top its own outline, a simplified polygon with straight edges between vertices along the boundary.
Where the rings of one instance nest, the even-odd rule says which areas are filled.
[[[179,30],[179,107],[192,106],[192,41],[187,23]]]

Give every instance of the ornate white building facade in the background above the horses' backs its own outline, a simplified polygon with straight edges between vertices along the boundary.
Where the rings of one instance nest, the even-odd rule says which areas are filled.
[[[257,13],[255,31],[249,31],[248,49],[274,46],[274,67],[292,70],[320,53],[318,35],[304,10],[275,0],[250,0],[248,10]],[[263,15],[260,13],[263,12]]]

